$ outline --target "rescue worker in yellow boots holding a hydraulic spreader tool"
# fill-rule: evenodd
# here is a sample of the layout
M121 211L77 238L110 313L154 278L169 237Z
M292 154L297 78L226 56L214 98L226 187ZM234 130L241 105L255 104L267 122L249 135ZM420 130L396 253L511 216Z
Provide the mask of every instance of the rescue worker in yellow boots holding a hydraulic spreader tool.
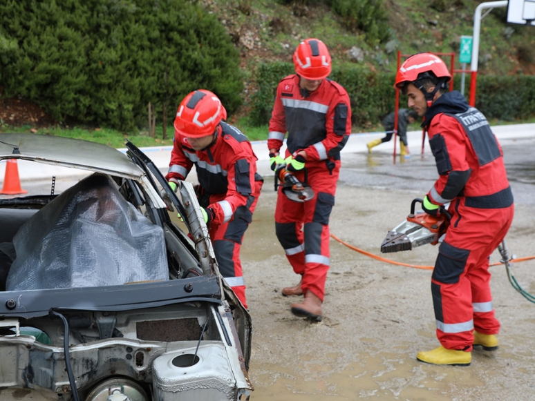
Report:
M449 203L449 228L431 277L441 346L417 354L430 364L469 365L475 345L498 349L500 322L494 316L489 256L513 220L513 194L503 152L482 113L457 91L442 59L420 53L406 59L395 87L424 116L439 177L424 197L426 213Z

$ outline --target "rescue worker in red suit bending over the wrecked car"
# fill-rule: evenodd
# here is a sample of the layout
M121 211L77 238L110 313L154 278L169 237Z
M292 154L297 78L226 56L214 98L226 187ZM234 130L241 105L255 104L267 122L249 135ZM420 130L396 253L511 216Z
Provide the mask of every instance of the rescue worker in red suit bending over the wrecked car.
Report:
M256 173L250 141L226 124L227 112L214 93L196 90L180 103L169 171L165 178L176 191L195 164L196 193L219 271L247 308L240 248L263 184Z

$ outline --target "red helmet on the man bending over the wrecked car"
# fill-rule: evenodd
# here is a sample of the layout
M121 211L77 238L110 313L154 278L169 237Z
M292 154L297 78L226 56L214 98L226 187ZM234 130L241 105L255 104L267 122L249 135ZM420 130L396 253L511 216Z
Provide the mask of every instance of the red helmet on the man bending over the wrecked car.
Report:
M189 93L178 106L175 129L185 137L212 135L227 110L219 98L209 90L199 89Z

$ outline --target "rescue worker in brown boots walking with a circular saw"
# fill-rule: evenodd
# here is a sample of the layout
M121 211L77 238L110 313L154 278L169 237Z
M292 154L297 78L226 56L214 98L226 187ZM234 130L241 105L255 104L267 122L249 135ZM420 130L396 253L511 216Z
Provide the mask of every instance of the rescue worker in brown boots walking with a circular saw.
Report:
M351 132L351 109L346 90L328 79L331 59L319 39L302 41L294 52L295 75L279 82L276 90L268 148L272 170L285 166L315 197L294 202L279 188L275 211L276 236L294 272L297 286L283 295L303 295L292 313L313 322L322 319L321 304L330 266L329 216L335 204L340 150ZM279 154L288 133L284 157Z

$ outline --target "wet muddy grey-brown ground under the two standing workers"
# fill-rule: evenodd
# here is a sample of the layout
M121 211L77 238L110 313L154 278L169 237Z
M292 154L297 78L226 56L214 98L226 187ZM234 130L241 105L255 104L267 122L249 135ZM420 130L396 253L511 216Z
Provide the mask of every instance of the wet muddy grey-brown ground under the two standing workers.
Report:
M432 266L434 246L386 255L380 254L379 246L388 230L409 213L411 200L433 184L433 160L414 157L393 166L390 155L372 156L346 157L331 233L393 262ZM417 168L426 164L433 167L430 173ZM524 178L511 174L512 186L520 182L520 190L529 191L525 199L535 197L530 182L534 171L527 168ZM254 327L253 401L535 400L535 304L514 291L503 265L491 268L494 306L502 324L500 348L474 349L466 367L433 366L415 358L418 351L439 345L430 271L381 262L334 239L323 322L310 324L294 317L290 306L301 298L282 297L280 291L297 284L298 277L274 235L271 180L266 179L242 248ZM509 251L517 257L535 255L529 199L517 202L507 237ZM499 260L497 252L491 256L491 263ZM535 261L514 264L513 271L524 289L534 293Z

